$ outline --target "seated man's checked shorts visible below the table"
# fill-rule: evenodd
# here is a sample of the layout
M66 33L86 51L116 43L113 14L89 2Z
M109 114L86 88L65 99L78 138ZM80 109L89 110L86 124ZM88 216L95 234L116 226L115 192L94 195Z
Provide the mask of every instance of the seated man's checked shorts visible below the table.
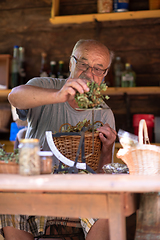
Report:
M97 221L97 219L86 219L83 218L73 219L73 218L57 218L57 217L42 217L42 216L27 216L27 215L0 215L0 234L3 234L3 227L12 226L19 230L24 230L26 232L32 233L34 237L44 235L46 228L50 225L54 226L64 226L66 230L68 227L71 228L81 228L83 229L85 237L89 232L92 225ZM58 228L55 228L56 230ZM60 229L60 228L59 228ZM61 230L59 230L61 234ZM75 232L75 229L74 229Z

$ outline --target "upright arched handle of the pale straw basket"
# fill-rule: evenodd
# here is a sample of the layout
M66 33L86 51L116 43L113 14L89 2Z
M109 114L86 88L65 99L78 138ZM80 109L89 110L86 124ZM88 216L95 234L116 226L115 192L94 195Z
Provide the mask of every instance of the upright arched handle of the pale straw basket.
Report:
M144 133L144 138L143 138L143 133ZM144 119L141 119L139 122L139 132L138 132L138 139L139 139L139 144L143 144L143 142L149 143L149 137L148 137L148 130L147 130L147 124Z

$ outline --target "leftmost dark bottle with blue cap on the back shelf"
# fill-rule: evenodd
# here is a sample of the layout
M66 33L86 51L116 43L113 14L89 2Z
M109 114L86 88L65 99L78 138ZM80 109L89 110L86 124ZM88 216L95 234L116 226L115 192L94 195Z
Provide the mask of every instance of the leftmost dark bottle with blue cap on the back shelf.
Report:
M19 46L13 48L13 58L11 64L11 81L10 87L14 88L19 85Z

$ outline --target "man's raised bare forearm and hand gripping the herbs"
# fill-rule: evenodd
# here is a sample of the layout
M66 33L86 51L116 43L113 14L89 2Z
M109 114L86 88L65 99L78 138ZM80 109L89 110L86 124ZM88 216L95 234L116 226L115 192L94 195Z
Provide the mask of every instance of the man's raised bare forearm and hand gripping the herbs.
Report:
M76 91L89 91L85 79L68 79L60 89L49 89L31 85L20 85L8 95L9 102L18 109L29 109L47 104L73 101Z

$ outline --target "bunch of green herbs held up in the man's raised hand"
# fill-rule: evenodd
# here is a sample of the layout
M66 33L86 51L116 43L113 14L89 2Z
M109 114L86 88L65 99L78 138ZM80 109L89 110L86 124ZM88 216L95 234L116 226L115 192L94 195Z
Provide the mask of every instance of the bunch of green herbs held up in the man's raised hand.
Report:
M108 96L104 97L101 93L102 91L106 91L108 88L105 83L98 85L95 82L87 82L87 86L90 89L88 92L83 94L77 92L75 95L75 100L79 108L98 108L103 103L104 99L109 99Z

